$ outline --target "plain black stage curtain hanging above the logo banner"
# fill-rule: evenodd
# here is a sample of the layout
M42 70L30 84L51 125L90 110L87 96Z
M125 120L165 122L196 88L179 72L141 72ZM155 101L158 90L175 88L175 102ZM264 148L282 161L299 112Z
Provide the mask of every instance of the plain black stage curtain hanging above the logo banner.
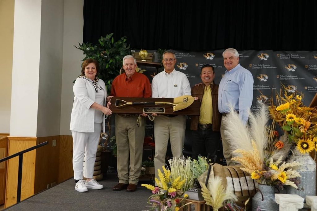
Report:
M84 42L132 48L317 50L317 1L84 0Z

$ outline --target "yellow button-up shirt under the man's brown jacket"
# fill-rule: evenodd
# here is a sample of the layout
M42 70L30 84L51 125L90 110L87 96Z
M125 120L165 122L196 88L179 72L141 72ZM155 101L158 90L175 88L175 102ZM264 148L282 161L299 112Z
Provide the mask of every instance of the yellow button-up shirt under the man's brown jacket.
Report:
M212 124L212 99L210 86L204 87L204 95L200 105L200 124Z

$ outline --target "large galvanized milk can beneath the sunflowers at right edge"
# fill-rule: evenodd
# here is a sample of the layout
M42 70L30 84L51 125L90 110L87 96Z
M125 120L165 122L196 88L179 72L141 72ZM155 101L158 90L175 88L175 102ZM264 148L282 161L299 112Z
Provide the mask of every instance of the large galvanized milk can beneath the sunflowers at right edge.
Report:
M309 153L301 154L296 148L293 148L293 153L286 162L297 161L300 162L300 166L294 167L294 170L297 170L301 177L296 177L300 182L298 189L293 187L287 188L288 194L297 194L306 199L306 195L316 195L316 162ZM306 203L304 208L307 208Z

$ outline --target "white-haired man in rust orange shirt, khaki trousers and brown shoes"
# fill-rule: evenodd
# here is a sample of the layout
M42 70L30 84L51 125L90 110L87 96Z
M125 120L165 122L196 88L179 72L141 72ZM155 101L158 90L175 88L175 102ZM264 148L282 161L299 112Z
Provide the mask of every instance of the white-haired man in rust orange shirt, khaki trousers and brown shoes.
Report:
M110 95L117 97L151 97L150 81L145 75L135 71L137 62L133 56L125 56L122 62L125 73L120 74L113 80ZM137 119L138 115L115 115L119 183L113 187L114 191L126 188L128 192L133 192L139 182L145 124L138 127Z

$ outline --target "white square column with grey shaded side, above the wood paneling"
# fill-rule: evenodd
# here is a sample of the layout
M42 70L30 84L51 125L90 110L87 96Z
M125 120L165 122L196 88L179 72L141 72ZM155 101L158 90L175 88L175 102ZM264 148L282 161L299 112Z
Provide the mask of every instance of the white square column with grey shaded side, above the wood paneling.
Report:
M59 135L64 0L15 0L10 136Z

